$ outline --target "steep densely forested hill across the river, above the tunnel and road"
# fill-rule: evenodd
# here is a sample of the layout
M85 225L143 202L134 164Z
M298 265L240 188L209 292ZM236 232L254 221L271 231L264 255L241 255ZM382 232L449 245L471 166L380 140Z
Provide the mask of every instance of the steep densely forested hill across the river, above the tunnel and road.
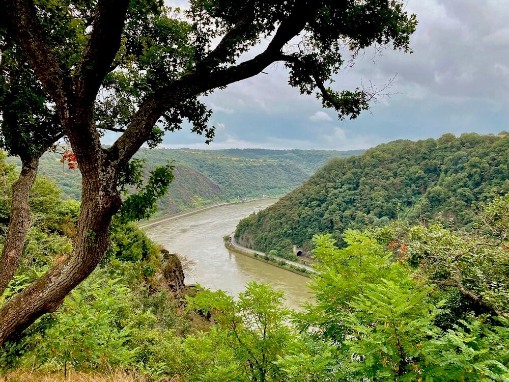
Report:
M470 228L479 203L509 192L509 135L444 134L394 141L360 156L331 160L278 203L242 220L236 237L249 248L310 248L314 234L340 240L348 229L438 217Z

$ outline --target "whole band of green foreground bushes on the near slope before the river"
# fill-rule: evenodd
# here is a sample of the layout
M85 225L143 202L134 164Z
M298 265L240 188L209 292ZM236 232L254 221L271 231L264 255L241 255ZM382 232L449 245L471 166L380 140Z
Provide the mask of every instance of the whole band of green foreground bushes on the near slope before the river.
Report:
M16 174L3 160L0 170L5 232ZM79 202L60 194L54 182L36 179L33 225L0 307L70 255ZM393 222L347 230L343 249L330 234L315 235L315 301L296 313L282 292L256 282L238 298L185 286L189 261L117 216L100 266L59 309L4 344L0 375L13 382L504 382L508 219L505 196L479 208L468 233Z

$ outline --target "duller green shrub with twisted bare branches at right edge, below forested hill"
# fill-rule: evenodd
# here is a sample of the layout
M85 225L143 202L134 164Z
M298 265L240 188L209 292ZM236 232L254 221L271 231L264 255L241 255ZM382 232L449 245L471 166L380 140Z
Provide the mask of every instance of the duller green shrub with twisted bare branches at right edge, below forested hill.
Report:
M509 318L509 195L497 197L479 214L472 232L436 224L408 232L409 262L444 289L455 289L477 312Z

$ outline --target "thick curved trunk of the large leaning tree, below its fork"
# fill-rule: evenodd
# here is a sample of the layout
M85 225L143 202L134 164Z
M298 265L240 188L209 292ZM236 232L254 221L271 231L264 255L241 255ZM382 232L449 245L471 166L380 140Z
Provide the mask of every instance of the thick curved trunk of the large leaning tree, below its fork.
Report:
M65 296L92 273L108 248L111 217L121 205L116 174L101 167L98 172L82 171L82 175L73 251L0 308L0 347L44 313L55 311Z

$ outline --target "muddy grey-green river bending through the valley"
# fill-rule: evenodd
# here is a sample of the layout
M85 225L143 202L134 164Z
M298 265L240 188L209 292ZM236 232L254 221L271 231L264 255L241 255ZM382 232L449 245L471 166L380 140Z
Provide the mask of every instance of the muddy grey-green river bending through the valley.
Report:
M237 295L246 283L255 280L285 292L286 305L299 309L309 301L309 279L288 270L238 254L224 247L223 236L232 233L237 223L252 212L266 208L274 199L230 204L205 210L146 229L147 235L170 252L195 262L186 273L186 284L200 284Z

